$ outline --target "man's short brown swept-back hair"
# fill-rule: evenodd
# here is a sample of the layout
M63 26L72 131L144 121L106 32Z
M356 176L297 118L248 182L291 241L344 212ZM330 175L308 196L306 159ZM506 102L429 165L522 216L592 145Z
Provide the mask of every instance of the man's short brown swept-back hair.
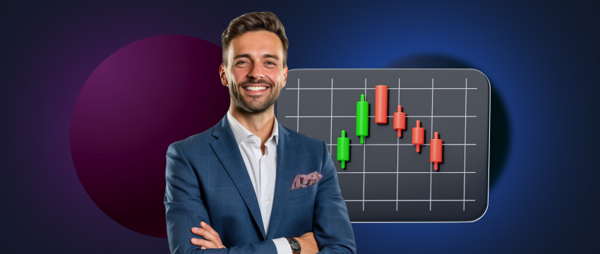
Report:
M280 38L283 44L283 66L287 66L287 46L289 42L287 41L287 37L285 37L283 24L274 13L268 11L246 13L229 23L229 26L223 31L223 35L221 35L223 65L227 66L227 51L229 50L229 45L232 43L232 40L244 35L246 32L261 30L273 32Z

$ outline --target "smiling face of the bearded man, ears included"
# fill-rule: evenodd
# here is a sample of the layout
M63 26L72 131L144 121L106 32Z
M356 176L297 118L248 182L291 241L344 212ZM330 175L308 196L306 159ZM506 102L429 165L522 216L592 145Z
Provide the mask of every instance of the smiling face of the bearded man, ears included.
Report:
M287 79L283 44L268 31L246 32L229 44L227 66L219 68L221 83L237 107L258 113L268 109L280 95Z

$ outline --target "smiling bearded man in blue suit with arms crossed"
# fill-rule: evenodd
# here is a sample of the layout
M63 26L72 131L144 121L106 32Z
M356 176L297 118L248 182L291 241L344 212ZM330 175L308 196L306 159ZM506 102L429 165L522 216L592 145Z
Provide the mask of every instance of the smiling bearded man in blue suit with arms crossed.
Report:
M167 150L171 253L356 253L327 144L275 119L287 78L280 20L240 16L222 47L227 115Z

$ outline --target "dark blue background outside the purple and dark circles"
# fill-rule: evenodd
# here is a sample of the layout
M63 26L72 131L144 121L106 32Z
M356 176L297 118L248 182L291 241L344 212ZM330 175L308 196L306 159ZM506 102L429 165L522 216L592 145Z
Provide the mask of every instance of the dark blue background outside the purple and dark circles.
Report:
M592 3L3 3L0 252L168 253L167 239L116 224L85 193L68 139L74 104L90 73L121 47L155 35L220 45L229 21L253 11L282 20L291 69L443 56L485 73L503 102L510 146L484 217L353 224L359 253L597 250L600 9Z

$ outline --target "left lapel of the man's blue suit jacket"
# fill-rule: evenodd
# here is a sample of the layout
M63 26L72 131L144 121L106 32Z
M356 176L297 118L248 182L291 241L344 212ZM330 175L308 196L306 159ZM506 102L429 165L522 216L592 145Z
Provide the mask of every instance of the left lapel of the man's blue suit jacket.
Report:
M214 131L212 131L212 135L217 140L212 141L210 146L217 154L217 157L219 157L225 170L227 170L229 177L232 178L239 194L244 198L244 202L246 202L246 206L250 210L254 222L258 225L260 233L263 234L264 241L266 239L265 226L263 225L263 217L258 207L258 200L256 200L256 193L254 192L250 176L248 176L248 169L246 169L244 159L241 157L241 152L239 151L232 128L229 126L229 121L227 121L227 115L221 119ZM277 153L279 154L279 147L277 147ZM277 162L277 169L279 169L279 162ZM277 170L277 173L279 173L279 170ZM290 188L292 188L291 185Z

